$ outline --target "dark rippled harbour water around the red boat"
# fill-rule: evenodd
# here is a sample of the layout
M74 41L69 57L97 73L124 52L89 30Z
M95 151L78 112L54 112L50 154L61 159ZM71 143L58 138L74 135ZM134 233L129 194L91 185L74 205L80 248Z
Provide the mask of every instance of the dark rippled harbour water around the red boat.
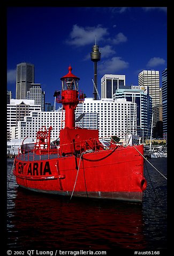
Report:
M148 161L167 177L167 158ZM7 159L7 250L167 250L167 180L147 161L142 205L31 193L12 166Z

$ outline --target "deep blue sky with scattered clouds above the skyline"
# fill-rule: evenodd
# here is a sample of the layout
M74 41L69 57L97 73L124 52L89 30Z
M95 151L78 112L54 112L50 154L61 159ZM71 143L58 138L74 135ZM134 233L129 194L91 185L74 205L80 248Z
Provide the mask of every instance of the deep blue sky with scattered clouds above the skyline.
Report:
M90 52L100 47L97 88L104 74L126 76L138 85L142 70L167 68L166 7L9 7L7 8L7 90L16 97L16 66L35 66L35 83L54 104L60 77L80 77L79 89L93 97L94 64Z

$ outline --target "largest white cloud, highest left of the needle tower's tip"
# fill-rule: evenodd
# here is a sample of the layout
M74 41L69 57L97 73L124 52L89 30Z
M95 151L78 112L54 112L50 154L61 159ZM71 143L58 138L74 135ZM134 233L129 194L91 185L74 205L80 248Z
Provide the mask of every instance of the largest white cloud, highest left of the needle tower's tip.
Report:
M72 31L70 33L70 39L67 40L67 44L74 46L84 46L88 44L95 43L96 41L103 40L103 37L108 34L106 28L97 25L95 27L80 27L78 25L73 25Z

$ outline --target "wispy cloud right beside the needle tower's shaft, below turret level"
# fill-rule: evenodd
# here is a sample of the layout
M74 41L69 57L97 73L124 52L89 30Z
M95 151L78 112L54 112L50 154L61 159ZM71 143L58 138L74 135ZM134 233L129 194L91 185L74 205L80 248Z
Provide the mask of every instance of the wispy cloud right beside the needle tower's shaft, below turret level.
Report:
M116 74L119 70L128 67L128 62L122 60L120 57L113 57L110 60L99 63L100 74Z

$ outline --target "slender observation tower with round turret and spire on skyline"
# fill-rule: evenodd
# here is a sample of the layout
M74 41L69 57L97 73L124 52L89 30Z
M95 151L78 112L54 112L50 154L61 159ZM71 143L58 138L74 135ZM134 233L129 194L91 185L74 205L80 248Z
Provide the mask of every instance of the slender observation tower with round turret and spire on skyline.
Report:
M97 61L100 60L101 53L99 52L99 45L96 45L96 39L95 39L95 45L92 47L92 52L90 53L90 59L94 62L94 83L97 88ZM97 99L97 91L94 87L94 99Z

